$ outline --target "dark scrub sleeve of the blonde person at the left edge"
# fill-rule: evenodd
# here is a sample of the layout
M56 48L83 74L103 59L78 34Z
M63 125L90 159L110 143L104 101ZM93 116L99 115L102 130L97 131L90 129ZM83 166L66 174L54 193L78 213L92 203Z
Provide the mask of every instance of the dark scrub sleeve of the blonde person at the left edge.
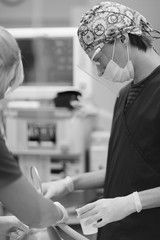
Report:
M0 188L22 176L22 172L16 159L8 150L6 143L0 134Z

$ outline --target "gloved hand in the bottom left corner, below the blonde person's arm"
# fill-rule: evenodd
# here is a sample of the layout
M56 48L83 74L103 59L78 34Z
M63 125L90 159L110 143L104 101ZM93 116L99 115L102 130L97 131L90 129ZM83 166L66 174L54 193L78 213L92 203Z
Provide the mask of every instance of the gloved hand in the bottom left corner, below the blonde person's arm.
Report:
M19 236L20 232L28 232L29 227L22 223L15 216L1 216L0 217L0 232L5 236ZM15 239L15 238L14 238Z

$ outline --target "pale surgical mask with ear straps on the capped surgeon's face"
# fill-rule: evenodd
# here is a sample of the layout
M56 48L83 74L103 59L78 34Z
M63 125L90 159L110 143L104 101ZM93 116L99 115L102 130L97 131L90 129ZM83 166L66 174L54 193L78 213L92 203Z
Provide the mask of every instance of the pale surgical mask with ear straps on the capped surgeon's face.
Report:
M112 53L112 59L109 61L109 63L106 66L106 69L103 73L103 77L109 81L112 82L126 82L133 80L134 78L134 69L133 69L133 64L129 60L129 51L128 51L128 46L127 46L127 56L128 56L128 61L127 64L124 68L121 68L116 62L113 61L114 57L114 52L115 52L115 42L113 45L113 53Z

